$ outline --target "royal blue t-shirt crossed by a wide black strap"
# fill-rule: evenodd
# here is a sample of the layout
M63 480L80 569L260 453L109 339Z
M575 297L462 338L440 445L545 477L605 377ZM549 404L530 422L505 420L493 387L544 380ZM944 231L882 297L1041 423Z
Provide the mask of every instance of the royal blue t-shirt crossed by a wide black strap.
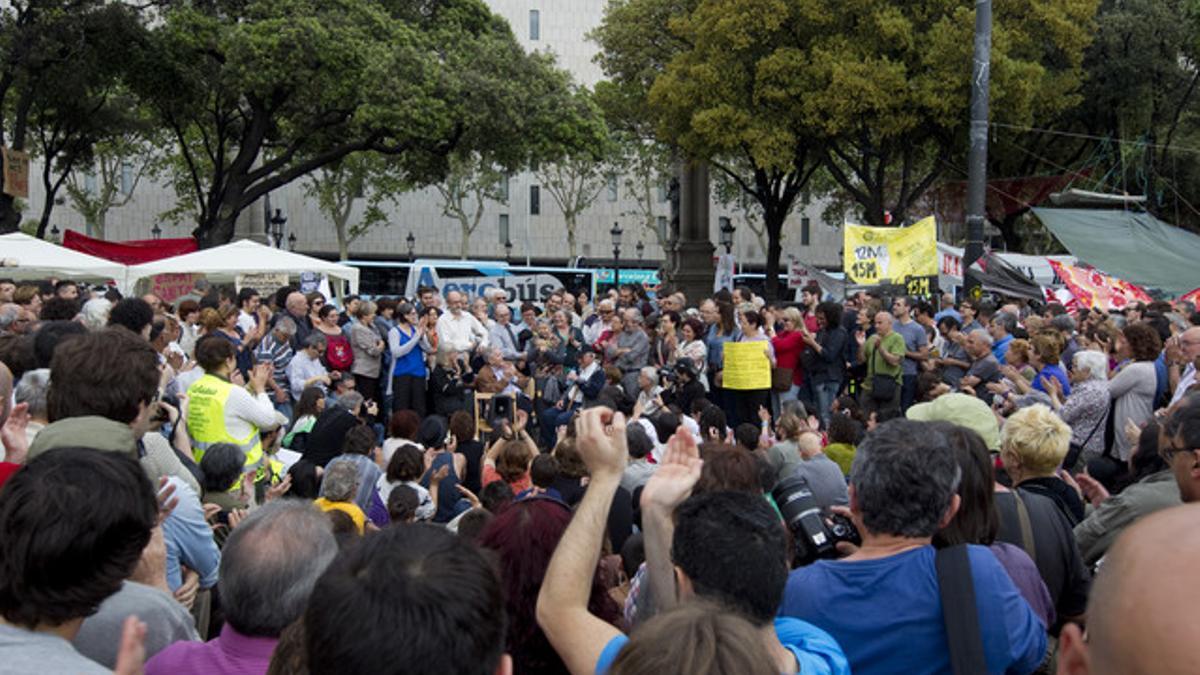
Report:
M988 673L1031 673L1045 627L985 546L968 546ZM792 571L780 614L829 632L856 675L950 673L934 546Z

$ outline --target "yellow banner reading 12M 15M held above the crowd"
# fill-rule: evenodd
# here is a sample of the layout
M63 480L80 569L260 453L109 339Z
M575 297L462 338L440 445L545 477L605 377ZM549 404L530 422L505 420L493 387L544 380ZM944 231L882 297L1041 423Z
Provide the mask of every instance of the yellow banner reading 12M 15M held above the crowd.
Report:
M934 216L910 227L846 225L846 281L859 286L905 283L937 275L937 223Z

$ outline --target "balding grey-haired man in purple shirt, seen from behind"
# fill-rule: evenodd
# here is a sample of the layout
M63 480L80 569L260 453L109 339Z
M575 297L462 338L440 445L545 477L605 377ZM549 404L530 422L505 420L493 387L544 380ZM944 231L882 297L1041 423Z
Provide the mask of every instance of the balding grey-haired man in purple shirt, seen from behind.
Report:
M311 504L269 503L229 534L221 558L221 637L175 643L146 663L155 673L265 673L280 634L299 619L337 555L329 519Z

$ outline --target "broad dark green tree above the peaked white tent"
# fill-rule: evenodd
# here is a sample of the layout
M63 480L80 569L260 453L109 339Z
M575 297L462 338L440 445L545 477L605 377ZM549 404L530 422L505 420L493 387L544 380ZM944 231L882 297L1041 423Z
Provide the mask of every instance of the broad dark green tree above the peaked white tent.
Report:
M455 150L520 163L504 141L527 130L527 92L559 85L479 0L174 2L144 58L139 91L178 145L176 215L194 215L202 246L353 153L389 155L413 185Z

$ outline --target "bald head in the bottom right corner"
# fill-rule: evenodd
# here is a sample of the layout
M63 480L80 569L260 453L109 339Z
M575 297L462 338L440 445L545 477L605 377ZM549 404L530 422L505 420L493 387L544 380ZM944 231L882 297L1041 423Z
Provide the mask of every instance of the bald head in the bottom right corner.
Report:
M1200 504L1160 510L1129 527L1104 558L1087 604L1087 641L1074 623L1058 638L1058 675L1183 675L1200 659Z

